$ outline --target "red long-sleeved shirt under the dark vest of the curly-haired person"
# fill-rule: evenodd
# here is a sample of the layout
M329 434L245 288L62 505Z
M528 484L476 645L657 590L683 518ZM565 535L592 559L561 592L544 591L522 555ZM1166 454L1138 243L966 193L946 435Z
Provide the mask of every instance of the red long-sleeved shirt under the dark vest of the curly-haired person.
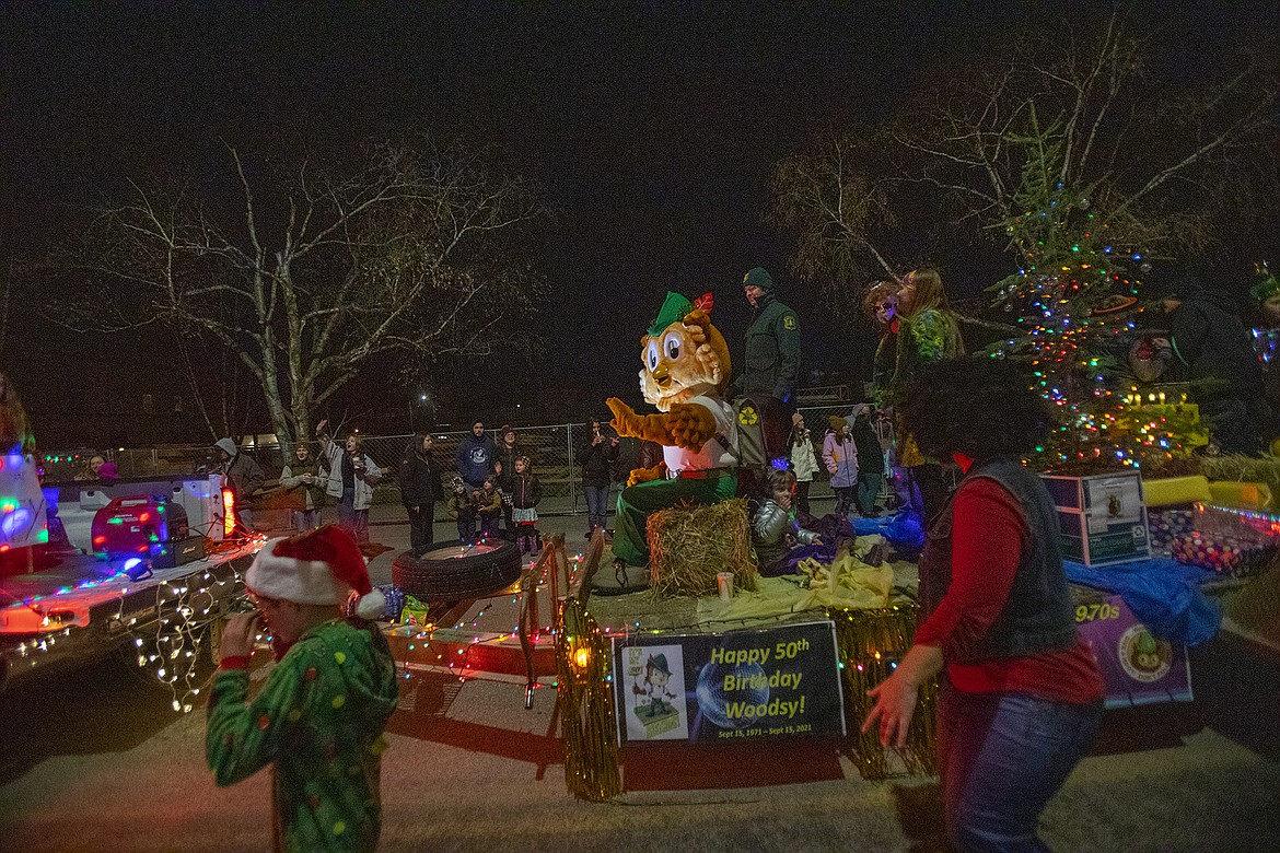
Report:
M1012 590L1030 531L1018 501L995 480L965 482L956 494L951 526L951 586L938 609L915 632L924 646L980 638L1000 616ZM951 683L968 693L1030 693L1055 702L1087 703L1106 688L1093 651L1079 638L1070 648L978 664L947 664Z

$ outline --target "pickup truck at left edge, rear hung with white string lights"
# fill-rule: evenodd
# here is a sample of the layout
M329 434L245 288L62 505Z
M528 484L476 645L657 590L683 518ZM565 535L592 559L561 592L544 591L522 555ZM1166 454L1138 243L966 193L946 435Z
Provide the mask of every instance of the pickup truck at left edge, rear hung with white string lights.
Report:
M60 520L65 540L46 533L40 545L0 554L5 558L0 689L33 673L87 665L119 652L152 665L168 680L177 666L155 666L157 657L179 646L209 646L207 628L242 593L243 573L261 546L256 537L224 538L224 496L216 476L46 482L40 491L42 520L47 513L55 532L52 519ZM164 497L180 505L192 537L201 540L202 556L186 563L150 555L95 556L93 517L116 497ZM200 642L188 642L193 638Z

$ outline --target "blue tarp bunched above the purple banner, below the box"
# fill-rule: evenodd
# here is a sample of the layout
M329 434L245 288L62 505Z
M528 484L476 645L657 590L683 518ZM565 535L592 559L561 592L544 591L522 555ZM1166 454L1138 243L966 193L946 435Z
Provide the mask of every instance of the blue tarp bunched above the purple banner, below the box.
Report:
M1119 593L1157 637L1199 646L1212 639L1222 623L1217 604L1201 584L1221 575L1167 556L1089 568L1066 560L1066 579Z

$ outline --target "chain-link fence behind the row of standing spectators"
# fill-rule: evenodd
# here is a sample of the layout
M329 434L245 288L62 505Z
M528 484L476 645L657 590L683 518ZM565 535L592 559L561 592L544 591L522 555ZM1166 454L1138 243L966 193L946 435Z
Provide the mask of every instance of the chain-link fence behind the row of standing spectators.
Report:
M814 455L818 458L818 473L810 487L810 499L831 497L827 471L822 464L822 440L832 416L849 418L852 405L806 407L800 409L805 426L814 441ZM887 418L878 418L874 430L886 449L892 448L892 426ZM470 431L433 432L435 446L433 455L448 483L449 476L457 469L457 451L462 439ZM498 439L494 431L486 431L494 444ZM538 506L540 515L586 514L586 500L581 486L581 449L588 442L588 426L584 423L557 423L550 426L525 426L516 428L517 453L527 455L532 471L543 486L543 501ZM364 451L381 471L381 480L374 487L375 505L399 505L399 483L397 468L406 450L412 445L412 435L361 436ZM312 450L319 449L312 445ZM261 509L271 509L271 487L279 480L284 468L284 458L278 445L250 445L241 449L252 457L266 474L268 487L256 503ZM72 482L78 476L87 474L88 459L93 450L79 449L45 455L46 482ZM97 451L115 462L122 478L151 478L165 474L191 474L216 468L216 450L211 445L166 445L157 448L122 448ZM637 466L639 442L635 439L622 439L618 458L614 463L614 494L626 481L627 473ZM887 489L887 486L886 486ZM278 494L278 492L276 492ZM611 501L612 503L612 501Z

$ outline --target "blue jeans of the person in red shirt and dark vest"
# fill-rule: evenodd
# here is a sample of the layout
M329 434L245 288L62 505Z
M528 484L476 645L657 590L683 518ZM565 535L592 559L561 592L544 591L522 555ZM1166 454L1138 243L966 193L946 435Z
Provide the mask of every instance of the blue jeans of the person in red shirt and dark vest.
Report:
M943 678L938 770L955 848L1047 850L1036 834L1039 813L1088 752L1101 721L1101 701L965 693Z

